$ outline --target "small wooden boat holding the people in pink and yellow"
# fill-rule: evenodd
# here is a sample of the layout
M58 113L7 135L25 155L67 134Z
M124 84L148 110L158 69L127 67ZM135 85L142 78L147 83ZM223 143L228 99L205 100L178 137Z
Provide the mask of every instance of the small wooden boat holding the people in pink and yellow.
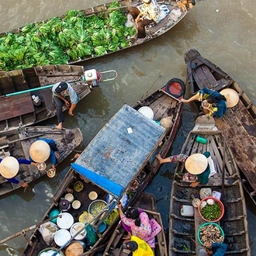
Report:
M156 220L157 223L161 225L162 230L155 237L156 247L154 248L154 255L167 256L168 252L164 235L164 227L161 220L161 214L157 212L156 198L154 197L154 195L143 192L142 194L140 194L137 202L134 203L133 207L143 209L143 211L147 213L150 219L154 218L154 220ZM122 251L123 236L125 234L126 233L122 226L122 223L119 222L115 231L109 239L109 243L107 244L103 255L127 255L125 252Z

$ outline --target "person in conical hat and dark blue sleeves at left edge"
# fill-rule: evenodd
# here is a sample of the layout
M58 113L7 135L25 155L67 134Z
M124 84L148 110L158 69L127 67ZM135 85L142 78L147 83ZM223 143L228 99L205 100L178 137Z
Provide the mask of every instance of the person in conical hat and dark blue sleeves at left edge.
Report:
M0 158L0 174L13 184L19 184L23 188L27 188L29 185L26 182L19 181L15 176L19 172L19 164L31 164L36 166L36 163L26 159L16 159L16 157Z

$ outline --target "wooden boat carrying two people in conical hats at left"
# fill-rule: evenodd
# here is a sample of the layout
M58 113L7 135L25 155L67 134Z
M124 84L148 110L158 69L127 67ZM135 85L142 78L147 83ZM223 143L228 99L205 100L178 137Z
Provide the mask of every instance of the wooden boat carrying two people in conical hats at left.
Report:
M21 127L19 130L10 130L1 133L0 157L12 156L17 159L29 159L29 147L36 139L40 138L55 140L59 150L58 164L82 142L81 130L78 128L58 130L50 126ZM51 168L50 160L46 164L47 167L43 171L39 171L35 166L30 164L20 164L19 173L16 175L16 178L27 183L33 182L42 175L45 175L47 170ZM0 195L5 195L19 188L20 185L8 182L0 176Z

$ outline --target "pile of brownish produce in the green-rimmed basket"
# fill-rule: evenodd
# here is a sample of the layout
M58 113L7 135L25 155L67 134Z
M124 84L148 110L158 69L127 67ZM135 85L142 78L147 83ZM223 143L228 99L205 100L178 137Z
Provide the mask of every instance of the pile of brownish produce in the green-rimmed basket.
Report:
M202 227L199 231L199 237L202 241L202 244L205 243L223 243L224 237L220 232L219 227L209 224L205 227Z

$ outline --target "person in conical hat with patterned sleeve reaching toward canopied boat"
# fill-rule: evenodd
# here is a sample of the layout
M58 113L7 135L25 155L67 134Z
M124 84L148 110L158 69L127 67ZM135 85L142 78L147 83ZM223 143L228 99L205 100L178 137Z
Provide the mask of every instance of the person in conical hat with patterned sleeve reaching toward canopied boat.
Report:
M203 154L177 154L171 157L162 158L157 154L157 160L160 164L177 163L178 161L185 162L185 169L188 173L183 176L183 181L191 182L191 186L195 188L197 185L206 185L209 181L210 168L207 158L210 157L209 151Z

